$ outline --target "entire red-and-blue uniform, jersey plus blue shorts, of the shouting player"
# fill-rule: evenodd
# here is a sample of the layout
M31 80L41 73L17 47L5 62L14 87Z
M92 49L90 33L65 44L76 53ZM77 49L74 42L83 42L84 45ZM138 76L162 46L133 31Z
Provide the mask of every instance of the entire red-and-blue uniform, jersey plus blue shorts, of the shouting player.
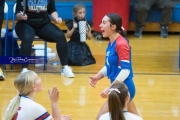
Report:
M132 81L131 50L128 41L123 36L119 35L113 43L109 42L106 49L105 68L107 70L107 77L111 83L115 80L124 82L130 88L130 97L133 99L135 87ZM124 76L124 79L121 76Z

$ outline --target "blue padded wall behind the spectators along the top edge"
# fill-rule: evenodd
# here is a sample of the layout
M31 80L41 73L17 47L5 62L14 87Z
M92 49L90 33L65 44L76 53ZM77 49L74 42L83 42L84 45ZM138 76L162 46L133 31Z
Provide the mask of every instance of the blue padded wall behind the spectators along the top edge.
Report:
M175 1L175 0L174 0ZM12 13L13 13L13 5L14 2L7 2L9 6L9 19L12 19ZM56 2L56 8L58 11L59 16L64 19L72 19L72 8L73 6L78 2ZM82 2L86 6L86 19L92 20L92 1L86 1ZM134 0L131 0L130 3L130 13L129 13L130 21L135 21L135 11L134 11ZM161 11L157 8L152 8L149 11L147 21L149 22L159 22L161 19ZM180 22L180 0L176 0L176 6L173 11L172 16L173 22Z

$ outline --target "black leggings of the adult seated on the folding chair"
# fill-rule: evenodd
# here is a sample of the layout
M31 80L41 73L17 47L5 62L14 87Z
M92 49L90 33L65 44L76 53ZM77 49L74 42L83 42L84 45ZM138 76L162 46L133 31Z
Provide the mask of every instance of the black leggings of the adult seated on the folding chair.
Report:
M62 30L51 22L43 26L33 27L27 23L19 21L15 26L16 33L21 40L21 56L30 56L34 36L37 35L45 41L55 42L58 56L62 65L68 65L67 41ZM27 68L27 64L23 64Z

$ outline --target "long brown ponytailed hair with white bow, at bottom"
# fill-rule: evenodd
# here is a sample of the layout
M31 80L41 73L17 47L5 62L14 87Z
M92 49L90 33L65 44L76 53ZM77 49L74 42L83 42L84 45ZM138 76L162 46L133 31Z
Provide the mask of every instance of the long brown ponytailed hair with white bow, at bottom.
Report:
M123 108L128 96L127 86L124 83L115 83L109 91L108 106L111 120L125 120Z

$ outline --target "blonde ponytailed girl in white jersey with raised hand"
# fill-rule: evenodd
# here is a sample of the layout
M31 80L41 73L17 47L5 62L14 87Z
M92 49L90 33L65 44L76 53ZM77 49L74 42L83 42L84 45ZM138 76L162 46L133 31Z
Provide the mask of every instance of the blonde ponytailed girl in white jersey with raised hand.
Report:
M31 70L19 74L14 81L19 94L11 100L5 120L71 120L69 116L60 114L59 91L56 87L48 90L52 116L41 104L34 101L36 94L41 91L41 84L41 78Z

